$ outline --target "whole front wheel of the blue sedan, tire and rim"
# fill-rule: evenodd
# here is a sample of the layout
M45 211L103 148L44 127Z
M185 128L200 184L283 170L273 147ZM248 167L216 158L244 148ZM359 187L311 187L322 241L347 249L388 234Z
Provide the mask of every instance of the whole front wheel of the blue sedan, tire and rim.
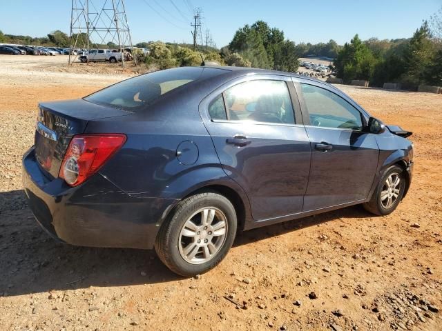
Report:
M401 202L405 191L406 178L398 165L388 168L379 181L372 199L363 206L376 215L391 214Z

